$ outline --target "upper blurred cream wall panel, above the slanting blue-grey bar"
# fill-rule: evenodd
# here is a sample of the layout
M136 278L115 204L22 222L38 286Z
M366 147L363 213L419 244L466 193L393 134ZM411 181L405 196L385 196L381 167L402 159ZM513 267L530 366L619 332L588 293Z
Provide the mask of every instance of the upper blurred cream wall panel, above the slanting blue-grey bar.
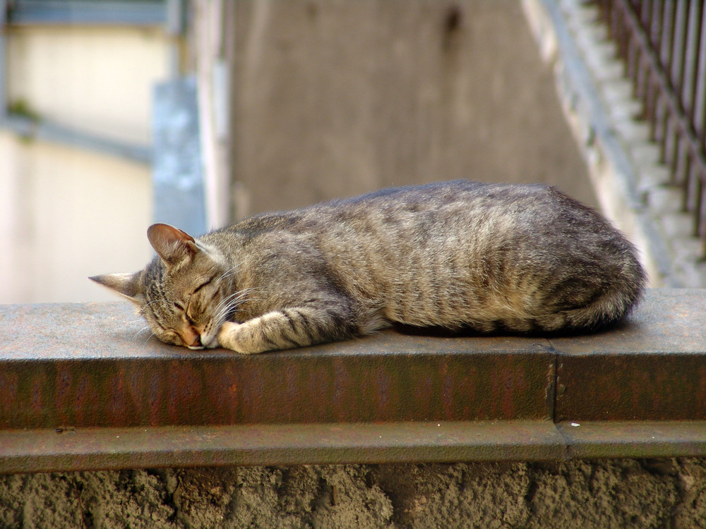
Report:
M152 83L167 77L162 32L33 26L8 31L8 99L44 118L127 142L150 141Z

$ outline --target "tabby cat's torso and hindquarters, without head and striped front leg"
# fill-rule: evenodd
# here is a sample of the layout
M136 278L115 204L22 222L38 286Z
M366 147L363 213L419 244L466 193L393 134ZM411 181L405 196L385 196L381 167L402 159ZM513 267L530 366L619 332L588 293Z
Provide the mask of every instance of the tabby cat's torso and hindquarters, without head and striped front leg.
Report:
M622 317L645 283L620 232L541 184L388 188L259 215L210 237L253 281L288 292L301 278L327 281L375 322L597 327Z

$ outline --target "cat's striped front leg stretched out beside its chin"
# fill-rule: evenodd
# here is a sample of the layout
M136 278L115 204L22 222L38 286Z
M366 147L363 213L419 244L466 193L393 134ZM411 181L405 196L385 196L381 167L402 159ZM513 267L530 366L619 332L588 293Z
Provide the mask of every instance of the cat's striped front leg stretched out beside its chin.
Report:
M225 322L222 347L243 354L310 346L352 338L357 326L345 310L304 307L273 310L243 323Z

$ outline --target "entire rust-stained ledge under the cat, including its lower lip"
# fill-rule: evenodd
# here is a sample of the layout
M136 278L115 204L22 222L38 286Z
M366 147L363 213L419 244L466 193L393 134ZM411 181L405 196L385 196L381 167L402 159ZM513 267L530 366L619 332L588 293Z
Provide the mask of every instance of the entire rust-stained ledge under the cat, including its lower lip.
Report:
M241 356L127 303L0 307L0 472L706 455L706 291L590 336L364 339ZM579 425L579 426L573 426Z

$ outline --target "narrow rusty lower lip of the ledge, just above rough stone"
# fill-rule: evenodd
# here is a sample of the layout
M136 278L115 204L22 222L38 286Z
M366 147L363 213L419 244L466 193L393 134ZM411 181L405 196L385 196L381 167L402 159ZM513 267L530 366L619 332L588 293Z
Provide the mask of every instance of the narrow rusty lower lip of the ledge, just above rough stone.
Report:
M0 432L0 473L706 456L706 421L394 422Z

